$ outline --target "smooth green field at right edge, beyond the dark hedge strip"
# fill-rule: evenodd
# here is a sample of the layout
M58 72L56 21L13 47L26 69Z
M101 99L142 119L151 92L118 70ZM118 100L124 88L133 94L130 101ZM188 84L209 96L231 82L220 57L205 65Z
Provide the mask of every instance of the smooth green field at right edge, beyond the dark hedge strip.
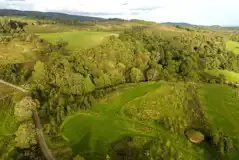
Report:
M226 85L204 85L199 90L206 117L212 125L235 139L234 151L239 156L239 91Z

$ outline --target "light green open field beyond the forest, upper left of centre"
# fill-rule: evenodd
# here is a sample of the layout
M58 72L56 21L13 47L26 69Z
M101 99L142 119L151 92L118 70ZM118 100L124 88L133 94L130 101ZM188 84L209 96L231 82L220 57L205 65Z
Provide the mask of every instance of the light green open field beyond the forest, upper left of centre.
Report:
M110 32L61 32L40 34L43 38L51 43L55 43L59 39L67 41L68 48L77 50L81 48L91 48L101 44L111 35L116 35Z

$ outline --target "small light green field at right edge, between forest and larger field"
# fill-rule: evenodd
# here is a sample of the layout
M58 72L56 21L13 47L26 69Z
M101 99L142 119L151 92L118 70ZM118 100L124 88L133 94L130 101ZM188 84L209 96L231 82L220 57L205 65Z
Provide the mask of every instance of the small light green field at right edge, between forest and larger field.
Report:
M206 70L205 72L213 75L213 76L219 76L219 74L223 74L226 78L226 80L231 82L238 82L239 83L239 74L233 71L228 70Z

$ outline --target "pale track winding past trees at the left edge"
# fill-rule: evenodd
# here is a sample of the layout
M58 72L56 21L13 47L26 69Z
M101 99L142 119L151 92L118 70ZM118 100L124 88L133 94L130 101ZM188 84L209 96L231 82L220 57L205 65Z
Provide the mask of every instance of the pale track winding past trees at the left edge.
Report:
M19 86L16 86L14 84L8 83L8 82L6 82L4 80L0 79L0 83L5 84L5 85L7 85L9 87L15 88L15 89L17 89L17 90L19 90L19 91L21 91L23 93L29 93L28 90L26 90L24 88L21 88ZM43 153L44 157L47 160L55 160L55 158L53 157L53 155L51 153L51 150L48 148L48 146L46 144L46 141L45 141L45 138L44 138L44 134L43 134L43 130L42 130L41 120L40 120L40 118L38 116L37 110L33 111L33 118L35 120L35 124L36 124L36 127L37 127L37 140L38 140L41 152Z

